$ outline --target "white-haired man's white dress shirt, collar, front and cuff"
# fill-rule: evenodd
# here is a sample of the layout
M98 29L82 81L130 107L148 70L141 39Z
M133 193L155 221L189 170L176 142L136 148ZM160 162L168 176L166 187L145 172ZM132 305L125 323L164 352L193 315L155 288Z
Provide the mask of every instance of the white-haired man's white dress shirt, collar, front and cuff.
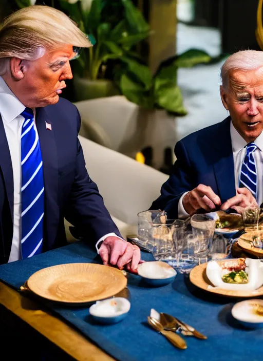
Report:
M241 166L246 154L246 145L248 143L237 132L232 122L230 124L230 135L231 135L231 143L232 143L232 150L234 157L235 185L237 189L239 187ZM256 173L257 173L256 200L257 200L257 204L260 206L263 202L263 132L261 132L261 134L255 139L253 143L257 146L257 149L253 152L253 156L256 163ZM185 192L179 199L179 203L178 203L179 218L185 218L189 216L189 214L185 211L182 202L184 195L187 193L188 192Z

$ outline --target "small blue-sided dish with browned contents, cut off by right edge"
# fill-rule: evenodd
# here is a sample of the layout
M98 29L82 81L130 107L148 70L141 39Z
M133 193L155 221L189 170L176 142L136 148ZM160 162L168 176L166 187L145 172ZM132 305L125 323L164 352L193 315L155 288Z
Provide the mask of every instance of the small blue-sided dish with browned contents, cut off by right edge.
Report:
M260 312L259 312L260 307ZM248 299L238 302L232 308L232 316L243 326L249 328L263 327L263 299Z

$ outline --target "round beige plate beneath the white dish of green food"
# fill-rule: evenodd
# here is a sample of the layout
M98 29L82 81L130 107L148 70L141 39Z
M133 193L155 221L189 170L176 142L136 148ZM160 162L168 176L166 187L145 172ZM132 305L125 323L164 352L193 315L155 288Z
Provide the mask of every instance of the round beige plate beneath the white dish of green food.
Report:
M223 261L218 262L219 265L221 262ZM224 290L222 288L209 287L213 285L206 276L206 272L205 272L206 265L207 263L203 263L202 265L196 266L190 272L190 280L192 284L201 288L202 290L211 293L220 294L226 297L257 297L263 295L263 286L261 286L255 291L231 291L231 290Z

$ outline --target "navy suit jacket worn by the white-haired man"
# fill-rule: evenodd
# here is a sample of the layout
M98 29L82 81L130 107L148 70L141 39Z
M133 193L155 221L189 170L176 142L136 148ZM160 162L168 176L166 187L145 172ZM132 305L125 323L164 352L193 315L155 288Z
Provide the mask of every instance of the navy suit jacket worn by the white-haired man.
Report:
M177 161L161 195L150 209L161 209L178 218L178 202L184 192L199 184L210 186L221 202L236 195L230 117L192 133L175 146Z

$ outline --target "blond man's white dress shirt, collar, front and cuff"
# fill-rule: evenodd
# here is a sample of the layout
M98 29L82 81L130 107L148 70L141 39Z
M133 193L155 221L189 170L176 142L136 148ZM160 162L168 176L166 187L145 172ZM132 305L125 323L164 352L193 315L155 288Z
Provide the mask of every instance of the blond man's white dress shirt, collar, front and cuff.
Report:
M25 118L20 114L24 110L25 106L0 76L0 113L9 146L14 179L13 239L8 262L21 259L21 129ZM117 235L115 233L105 234L98 240L96 248L108 236Z

